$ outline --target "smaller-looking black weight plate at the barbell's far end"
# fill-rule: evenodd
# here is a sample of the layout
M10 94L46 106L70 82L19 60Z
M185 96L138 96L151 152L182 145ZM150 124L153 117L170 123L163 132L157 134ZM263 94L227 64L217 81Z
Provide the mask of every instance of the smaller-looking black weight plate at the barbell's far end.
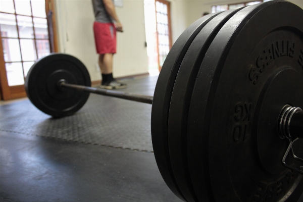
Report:
M25 89L32 104L45 114L64 117L77 112L89 93L63 89L60 80L71 84L90 86L90 77L84 64L67 54L51 54L36 61L25 79Z

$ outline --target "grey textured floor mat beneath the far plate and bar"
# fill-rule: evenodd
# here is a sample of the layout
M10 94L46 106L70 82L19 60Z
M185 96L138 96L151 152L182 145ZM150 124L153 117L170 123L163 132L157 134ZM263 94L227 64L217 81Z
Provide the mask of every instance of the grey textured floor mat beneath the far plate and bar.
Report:
M121 91L153 95L157 78L123 80ZM150 113L149 104L91 93L77 113L54 119L22 100L0 106L0 131L152 152Z

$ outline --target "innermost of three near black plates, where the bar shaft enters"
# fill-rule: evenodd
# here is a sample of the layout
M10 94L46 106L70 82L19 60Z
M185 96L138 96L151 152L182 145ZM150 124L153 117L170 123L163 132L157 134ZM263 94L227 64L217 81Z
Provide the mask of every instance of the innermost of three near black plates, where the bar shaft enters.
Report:
M217 14L202 17L190 25L176 40L162 66L151 108L151 140L159 171L168 187L182 200L176 183L168 150L168 113L174 82L188 47L199 31Z

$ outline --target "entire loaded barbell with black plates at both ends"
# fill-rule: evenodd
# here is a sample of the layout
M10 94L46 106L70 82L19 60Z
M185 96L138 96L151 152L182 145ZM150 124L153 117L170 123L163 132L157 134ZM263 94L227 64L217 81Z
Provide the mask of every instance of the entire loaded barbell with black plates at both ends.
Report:
M78 111L89 92L152 103L156 162L184 201L296 201L303 191L302 17L278 0L198 19L172 46L153 97L92 88L85 66L65 54L35 62L26 92L54 117Z

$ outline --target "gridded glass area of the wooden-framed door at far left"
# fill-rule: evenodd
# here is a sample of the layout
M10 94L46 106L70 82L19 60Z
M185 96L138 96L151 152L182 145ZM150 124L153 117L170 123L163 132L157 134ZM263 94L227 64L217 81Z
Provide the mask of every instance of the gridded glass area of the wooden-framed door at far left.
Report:
M51 52L45 0L0 1L0 31L8 88L24 89L31 65Z

